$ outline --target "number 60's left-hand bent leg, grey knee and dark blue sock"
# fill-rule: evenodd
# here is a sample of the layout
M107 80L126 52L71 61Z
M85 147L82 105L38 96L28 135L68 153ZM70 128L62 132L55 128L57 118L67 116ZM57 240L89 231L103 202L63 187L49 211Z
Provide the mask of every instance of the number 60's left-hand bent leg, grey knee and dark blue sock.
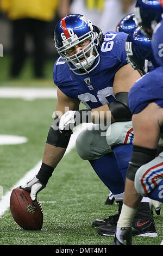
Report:
M121 194L124 192L123 177L114 153L111 152L106 137L101 136L98 125L92 125L79 134L76 149L83 160L89 160L99 178L114 194L115 199L122 200L123 196Z

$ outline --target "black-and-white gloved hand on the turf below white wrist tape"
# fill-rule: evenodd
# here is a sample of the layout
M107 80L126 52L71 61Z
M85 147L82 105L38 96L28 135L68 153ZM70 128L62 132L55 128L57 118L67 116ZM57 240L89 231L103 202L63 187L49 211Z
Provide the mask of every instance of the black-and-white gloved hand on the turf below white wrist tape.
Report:
M126 240L126 244L124 243ZM132 229L129 228L116 228L114 242L112 245L131 245L132 241Z

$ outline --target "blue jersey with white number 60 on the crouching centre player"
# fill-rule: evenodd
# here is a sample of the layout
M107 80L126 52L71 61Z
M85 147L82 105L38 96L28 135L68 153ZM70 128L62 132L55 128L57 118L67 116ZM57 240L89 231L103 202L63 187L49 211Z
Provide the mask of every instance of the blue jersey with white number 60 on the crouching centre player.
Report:
M54 84L68 97L79 99L87 108L97 108L115 100L112 90L118 69L127 64L125 42L128 34L108 32L100 51L100 62L86 75L76 75L61 58L54 64Z

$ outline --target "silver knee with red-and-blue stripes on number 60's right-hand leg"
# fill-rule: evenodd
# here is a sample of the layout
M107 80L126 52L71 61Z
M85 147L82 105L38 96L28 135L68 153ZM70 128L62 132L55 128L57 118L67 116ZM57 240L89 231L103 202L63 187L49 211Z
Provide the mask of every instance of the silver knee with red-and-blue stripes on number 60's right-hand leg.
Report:
M133 144L133 137L131 121L113 123L106 132L106 141L110 147L118 144Z

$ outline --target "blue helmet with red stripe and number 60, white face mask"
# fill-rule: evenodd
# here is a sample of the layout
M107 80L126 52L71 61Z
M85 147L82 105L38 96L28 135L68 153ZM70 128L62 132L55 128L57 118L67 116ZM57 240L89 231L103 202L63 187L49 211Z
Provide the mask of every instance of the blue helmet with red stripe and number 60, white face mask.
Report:
M68 56L67 50L73 49L86 39L90 41L89 45L80 52ZM96 68L100 60L99 50L102 41L101 29L81 14L66 15L57 23L54 30L57 52L76 75L87 74Z

